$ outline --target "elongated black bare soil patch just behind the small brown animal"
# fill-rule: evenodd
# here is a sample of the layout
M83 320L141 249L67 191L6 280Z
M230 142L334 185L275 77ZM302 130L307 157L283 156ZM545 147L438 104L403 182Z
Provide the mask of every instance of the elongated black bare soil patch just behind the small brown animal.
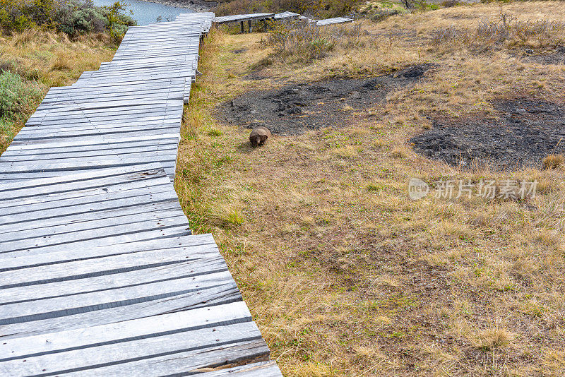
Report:
M347 125L350 109L383 104L389 92L414 85L429 68L429 65L418 65L374 78L335 78L246 92L223 104L219 115L239 126L266 126L280 135L328 126L342 127Z

